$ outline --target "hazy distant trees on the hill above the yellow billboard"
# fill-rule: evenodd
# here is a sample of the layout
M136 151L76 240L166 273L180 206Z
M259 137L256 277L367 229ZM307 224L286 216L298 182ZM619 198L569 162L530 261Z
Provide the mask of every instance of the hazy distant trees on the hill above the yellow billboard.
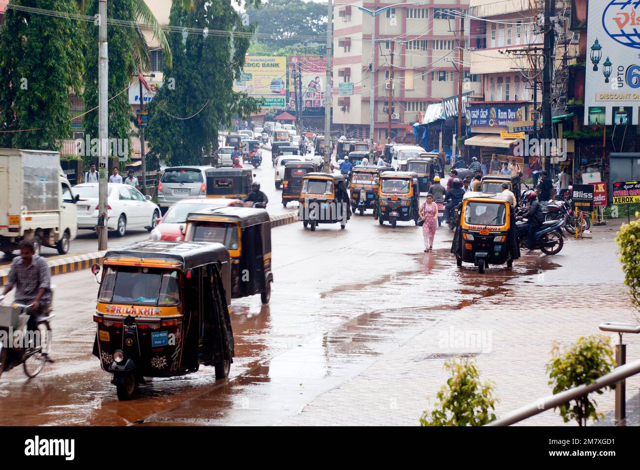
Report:
M303 0L269 0L257 6L247 6L246 13L251 22L258 24L259 42L267 47L279 49L288 45L307 42L296 36L319 36L326 38L326 3Z

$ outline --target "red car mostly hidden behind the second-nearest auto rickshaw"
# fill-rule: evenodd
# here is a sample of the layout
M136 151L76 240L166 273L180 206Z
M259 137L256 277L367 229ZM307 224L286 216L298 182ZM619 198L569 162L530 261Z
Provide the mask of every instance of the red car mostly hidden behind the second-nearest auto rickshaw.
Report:
M227 198L181 199L173 204L163 217L157 219L157 226L151 231L151 239L182 242L184 234L180 231L180 226L184 228L187 216L191 212L199 212L212 207L244 207L244 203L239 199Z

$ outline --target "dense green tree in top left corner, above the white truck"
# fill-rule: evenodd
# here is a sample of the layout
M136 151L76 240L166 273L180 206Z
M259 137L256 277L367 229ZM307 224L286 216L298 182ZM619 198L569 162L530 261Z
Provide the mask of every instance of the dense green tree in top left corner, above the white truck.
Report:
M16 6L78 13L74 0L13 0ZM83 76L81 27L64 19L8 9L0 26L0 146L51 148L71 134L69 92Z

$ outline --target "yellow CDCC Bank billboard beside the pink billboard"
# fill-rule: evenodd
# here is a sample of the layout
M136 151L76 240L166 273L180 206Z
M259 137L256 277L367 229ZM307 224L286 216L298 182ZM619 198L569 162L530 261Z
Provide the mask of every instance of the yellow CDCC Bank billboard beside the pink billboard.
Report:
M234 82L234 91L264 98L262 107L285 107L287 58L248 56L243 72L241 78Z

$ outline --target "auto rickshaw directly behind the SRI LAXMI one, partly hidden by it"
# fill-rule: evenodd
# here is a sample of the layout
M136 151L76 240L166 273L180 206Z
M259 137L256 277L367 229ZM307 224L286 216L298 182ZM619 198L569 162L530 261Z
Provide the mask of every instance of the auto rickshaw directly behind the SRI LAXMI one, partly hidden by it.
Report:
M231 297L271 299L271 223L264 209L208 208L187 216L184 239L223 243L231 256Z

